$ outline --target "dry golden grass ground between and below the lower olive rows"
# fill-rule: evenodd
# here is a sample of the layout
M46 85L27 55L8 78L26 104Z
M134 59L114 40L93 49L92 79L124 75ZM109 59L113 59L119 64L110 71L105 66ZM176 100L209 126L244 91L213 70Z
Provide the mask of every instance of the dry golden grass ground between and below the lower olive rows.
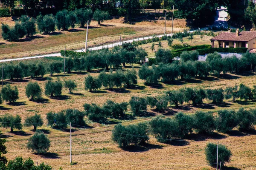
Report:
M47 62L47 59L41 59ZM49 59L48 59L49 60ZM140 65L133 65L136 70ZM123 68L131 69L129 68ZM122 150L111 140L111 130L113 126L121 122L121 120L110 120L109 124L99 124L86 119L90 129L73 129L72 146L73 161L78 162L76 165L69 164L69 129L55 130L46 125L46 113L49 111L58 112L67 108L77 108L83 110L84 103L97 103L102 105L107 99L115 102L128 102L131 96L156 96L163 94L165 91L174 90L184 87L200 87L200 88L224 88L227 86L239 85L241 82L249 87L256 85L256 75L222 75L220 78L208 77L207 79L191 79L189 82L175 81L172 84L160 83L157 87L150 87L143 84L143 80L139 79L138 86L135 89L119 88L109 91L100 89L97 92L90 93L84 90L84 78L91 74L97 76L100 70L93 70L91 73L78 72L72 74L56 74L53 77L46 75L44 79L30 80L25 78L20 82L9 82L16 85L19 90L20 99L15 105L3 103L0 107L0 115L11 113L18 114L22 120L28 115L34 113L41 114L44 118L45 125L40 127L51 140L51 147L47 155L41 156L32 153L26 149L27 139L34 133L32 127L26 127L22 131L10 133L9 129L1 129L2 137L7 139L7 158L14 159L16 156L24 158L31 157L35 162L52 165L54 169L63 167L64 170L148 170L148 169L172 169L172 170L213 170L207 165L204 155L204 147L208 142L219 142L225 144L231 150L233 156L230 163L226 164L230 170L254 170L256 169L256 132L241 133L234 130L230 135L214 133L211 136L199 136L191 134L186 142L175 142L173 144L162 144L157 142L153 136L149 144L145 147L131 147L129 150ZM31 102L25 96L25 86L29 81L37 81L44 89L47 78L51 79L73 79L78 88L74 94L68 94L68 90L64 89L62 98L49 99L44 97L44 102ZM122 120L124 125L133 124L141 121L148 121L152 116L162 114L171 117L177 112L193 114L195 111L212 111L216 112L222 109L239 109L254 108L256 102L240 101L233 103L225 101L225 105L212 105L205 100L202 106L193 107L191 103L185 103L180 109L169 106L165 113L157 113L154 109L148 108L149 116L135 117L135 119ZM128 110L128 114L131 112Z

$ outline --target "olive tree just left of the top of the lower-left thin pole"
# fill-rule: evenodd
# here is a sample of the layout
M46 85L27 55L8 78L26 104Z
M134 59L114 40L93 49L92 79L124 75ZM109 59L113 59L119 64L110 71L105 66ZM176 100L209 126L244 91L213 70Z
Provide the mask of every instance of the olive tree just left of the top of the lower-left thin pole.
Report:
M47 118L48 124L51 127L54 127L54 128L67 127L65 111L61 111L58 113L49 112L47 113L46 118Z

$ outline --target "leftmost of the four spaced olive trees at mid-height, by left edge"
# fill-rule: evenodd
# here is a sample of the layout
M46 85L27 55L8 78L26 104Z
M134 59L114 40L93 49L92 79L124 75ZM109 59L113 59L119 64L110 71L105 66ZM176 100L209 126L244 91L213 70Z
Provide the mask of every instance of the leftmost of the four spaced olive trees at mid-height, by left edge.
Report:
M6 102L12 103L19 99L19 91L17 86L5 85L1 90L2 98Z

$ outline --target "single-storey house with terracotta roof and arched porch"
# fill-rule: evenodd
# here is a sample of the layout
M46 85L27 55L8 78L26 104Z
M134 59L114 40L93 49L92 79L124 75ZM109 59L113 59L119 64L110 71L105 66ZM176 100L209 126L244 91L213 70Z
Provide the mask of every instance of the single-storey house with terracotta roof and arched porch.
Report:
M214 47L215 41L218 48L239 48L246 47L249 50L256 49L256 31L224 32L212 38L211 45Z

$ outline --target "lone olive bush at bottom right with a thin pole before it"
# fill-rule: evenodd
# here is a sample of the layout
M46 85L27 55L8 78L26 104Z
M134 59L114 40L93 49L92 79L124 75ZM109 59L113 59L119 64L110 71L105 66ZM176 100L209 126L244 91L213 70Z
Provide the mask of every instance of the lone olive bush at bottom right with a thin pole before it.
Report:
M206 160L212 167L216 167L217 144L208 143L205 148ZM230 161L231 151L225 145L218 145L218 161L225 164Z

